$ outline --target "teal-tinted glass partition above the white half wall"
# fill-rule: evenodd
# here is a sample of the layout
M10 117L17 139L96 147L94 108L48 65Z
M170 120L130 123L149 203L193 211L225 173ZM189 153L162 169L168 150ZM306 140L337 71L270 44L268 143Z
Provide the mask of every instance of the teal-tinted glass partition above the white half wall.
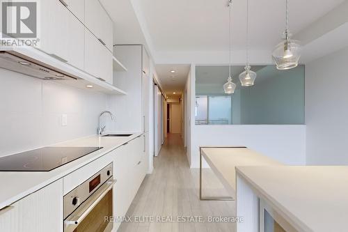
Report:
M304 124L305 66L276 70L274 65L257 65L255 85L242 87L239 74L244 66L233 66L232 95L223 92L228 66L196 66L197 125L301 125Z

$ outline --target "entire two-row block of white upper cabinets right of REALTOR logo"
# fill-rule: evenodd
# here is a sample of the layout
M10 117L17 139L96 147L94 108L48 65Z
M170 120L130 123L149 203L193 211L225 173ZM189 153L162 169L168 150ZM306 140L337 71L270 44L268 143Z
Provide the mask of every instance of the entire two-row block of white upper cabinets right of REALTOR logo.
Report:
M113 84L112 21L97 0L45 0L40 49Z

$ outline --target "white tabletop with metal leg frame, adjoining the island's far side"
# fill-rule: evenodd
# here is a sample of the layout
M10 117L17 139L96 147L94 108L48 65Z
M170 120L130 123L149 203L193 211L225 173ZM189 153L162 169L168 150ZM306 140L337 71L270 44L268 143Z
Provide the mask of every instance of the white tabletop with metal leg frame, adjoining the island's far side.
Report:
M235 167L282 165L249 148L202 148L202 155L232 196L236 190Z

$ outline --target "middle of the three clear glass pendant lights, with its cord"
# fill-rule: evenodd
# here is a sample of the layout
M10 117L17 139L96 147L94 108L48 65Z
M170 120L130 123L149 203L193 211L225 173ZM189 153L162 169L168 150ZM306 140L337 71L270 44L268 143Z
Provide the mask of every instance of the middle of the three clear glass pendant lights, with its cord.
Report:
M249 0L246 0L246 65L245 71L239 75L242 86L253 86L256 79L256 72L251 71L249 65L248 49L249 49Z

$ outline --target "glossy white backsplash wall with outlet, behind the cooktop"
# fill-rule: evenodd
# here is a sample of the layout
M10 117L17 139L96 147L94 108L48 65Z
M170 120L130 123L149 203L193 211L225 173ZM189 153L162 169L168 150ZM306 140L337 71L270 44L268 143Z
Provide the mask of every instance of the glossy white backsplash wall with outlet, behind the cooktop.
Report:
M0 156L97 134L98 116L106 109L103 93L1 68L0 79ZM62 114L68 114L64 127Z

